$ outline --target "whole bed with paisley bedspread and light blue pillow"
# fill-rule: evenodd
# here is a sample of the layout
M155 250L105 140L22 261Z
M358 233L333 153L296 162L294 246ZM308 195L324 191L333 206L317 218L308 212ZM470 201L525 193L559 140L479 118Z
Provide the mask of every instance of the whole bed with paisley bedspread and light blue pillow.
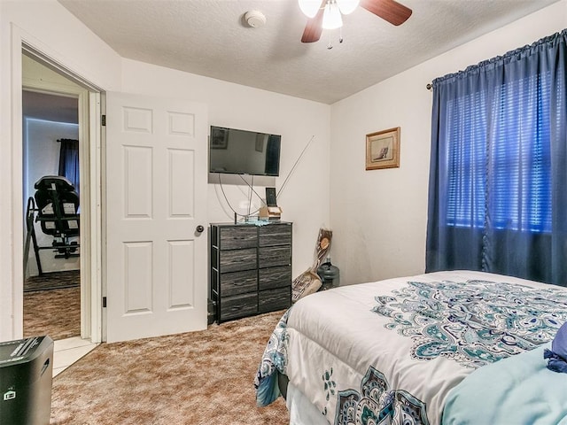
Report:
M283 314L255 379L291 424L567 424L567 375L543 352L567 290L438 272L340 287Z

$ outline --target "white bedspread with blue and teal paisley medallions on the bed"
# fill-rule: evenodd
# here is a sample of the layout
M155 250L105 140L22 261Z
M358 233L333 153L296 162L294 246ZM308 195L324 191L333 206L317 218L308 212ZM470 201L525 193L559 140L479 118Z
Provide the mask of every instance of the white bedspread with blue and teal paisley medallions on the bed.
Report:
M538 348L564 321L567 290L481 272L319 292L276 327L257 401L279 396L283 374L333 424L439 424L449 393L471 372Z

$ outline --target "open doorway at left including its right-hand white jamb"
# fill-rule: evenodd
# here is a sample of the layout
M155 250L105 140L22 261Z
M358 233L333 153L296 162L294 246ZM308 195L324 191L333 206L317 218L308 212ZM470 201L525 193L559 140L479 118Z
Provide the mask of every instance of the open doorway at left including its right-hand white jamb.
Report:
M48 331L40 335L52 334L56 341L68 342L67 338L74 337L100 343L100 91L32 47L22 44L21 51L23 334L37 335L26 321L30 316L41 320L38 316L43 315L49 319L40 326ZM74 209L71 213L76 216L71 219L76 220L66 217L65 221L74 232L54 233L50 229L53 224L44 223L44 217L38 220L40 207L47 208L49 215L57 204L39 205L43 199L36 197L36 183L45 182L45 178L50 189L55 189L55 178L63 179L70 191L76 192L76 204L66 192L60 209L66 214L70 213L68 208ZM30 209L35 211L30 214ZM29 237L30 215L35 238ZM37 299L27 302L27 293L34 293Z

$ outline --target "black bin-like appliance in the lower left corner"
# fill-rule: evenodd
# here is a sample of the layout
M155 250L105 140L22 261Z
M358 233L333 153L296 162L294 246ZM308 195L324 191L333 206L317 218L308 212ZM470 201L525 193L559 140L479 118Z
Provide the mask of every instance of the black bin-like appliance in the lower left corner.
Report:
M0 343L0 423L49 425L52 374L49 336Z

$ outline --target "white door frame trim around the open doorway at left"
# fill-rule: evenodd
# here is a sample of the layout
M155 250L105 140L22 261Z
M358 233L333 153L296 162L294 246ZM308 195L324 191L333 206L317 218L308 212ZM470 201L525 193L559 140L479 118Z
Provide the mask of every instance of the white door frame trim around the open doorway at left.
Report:
M82 186L82 220L81 235L87 243L81 243L81 314L82 337L93 343L102 341L102 259L103 259L103 161L102 137L100 129L101 92L95 84L82 78L78 73L71 71L65 64L55 59L57 54L50 52L46 46L33 37L26 35L19 27L12 25L11 40L12 65L12 128L11 128L11 167L12 167L12 279L0 284L4 294L12 295L10 307L12 323L8 328L9 338L17 339L23 336L23 229L24 206L23 193L23 166L22 166L22 55L23 50L43 65L49 66L58 73L63 74L71 81L86 89L79 95L80 122L88 122L84 128L80 125L80 136L89 139L88 149L83 149L80 165L81 175L85 177ZM86 134L81 134L81 128ZM83 209L84 207L84 209ZM84 272L83 272L84 270ZM3 332L5 332L5 328Z

